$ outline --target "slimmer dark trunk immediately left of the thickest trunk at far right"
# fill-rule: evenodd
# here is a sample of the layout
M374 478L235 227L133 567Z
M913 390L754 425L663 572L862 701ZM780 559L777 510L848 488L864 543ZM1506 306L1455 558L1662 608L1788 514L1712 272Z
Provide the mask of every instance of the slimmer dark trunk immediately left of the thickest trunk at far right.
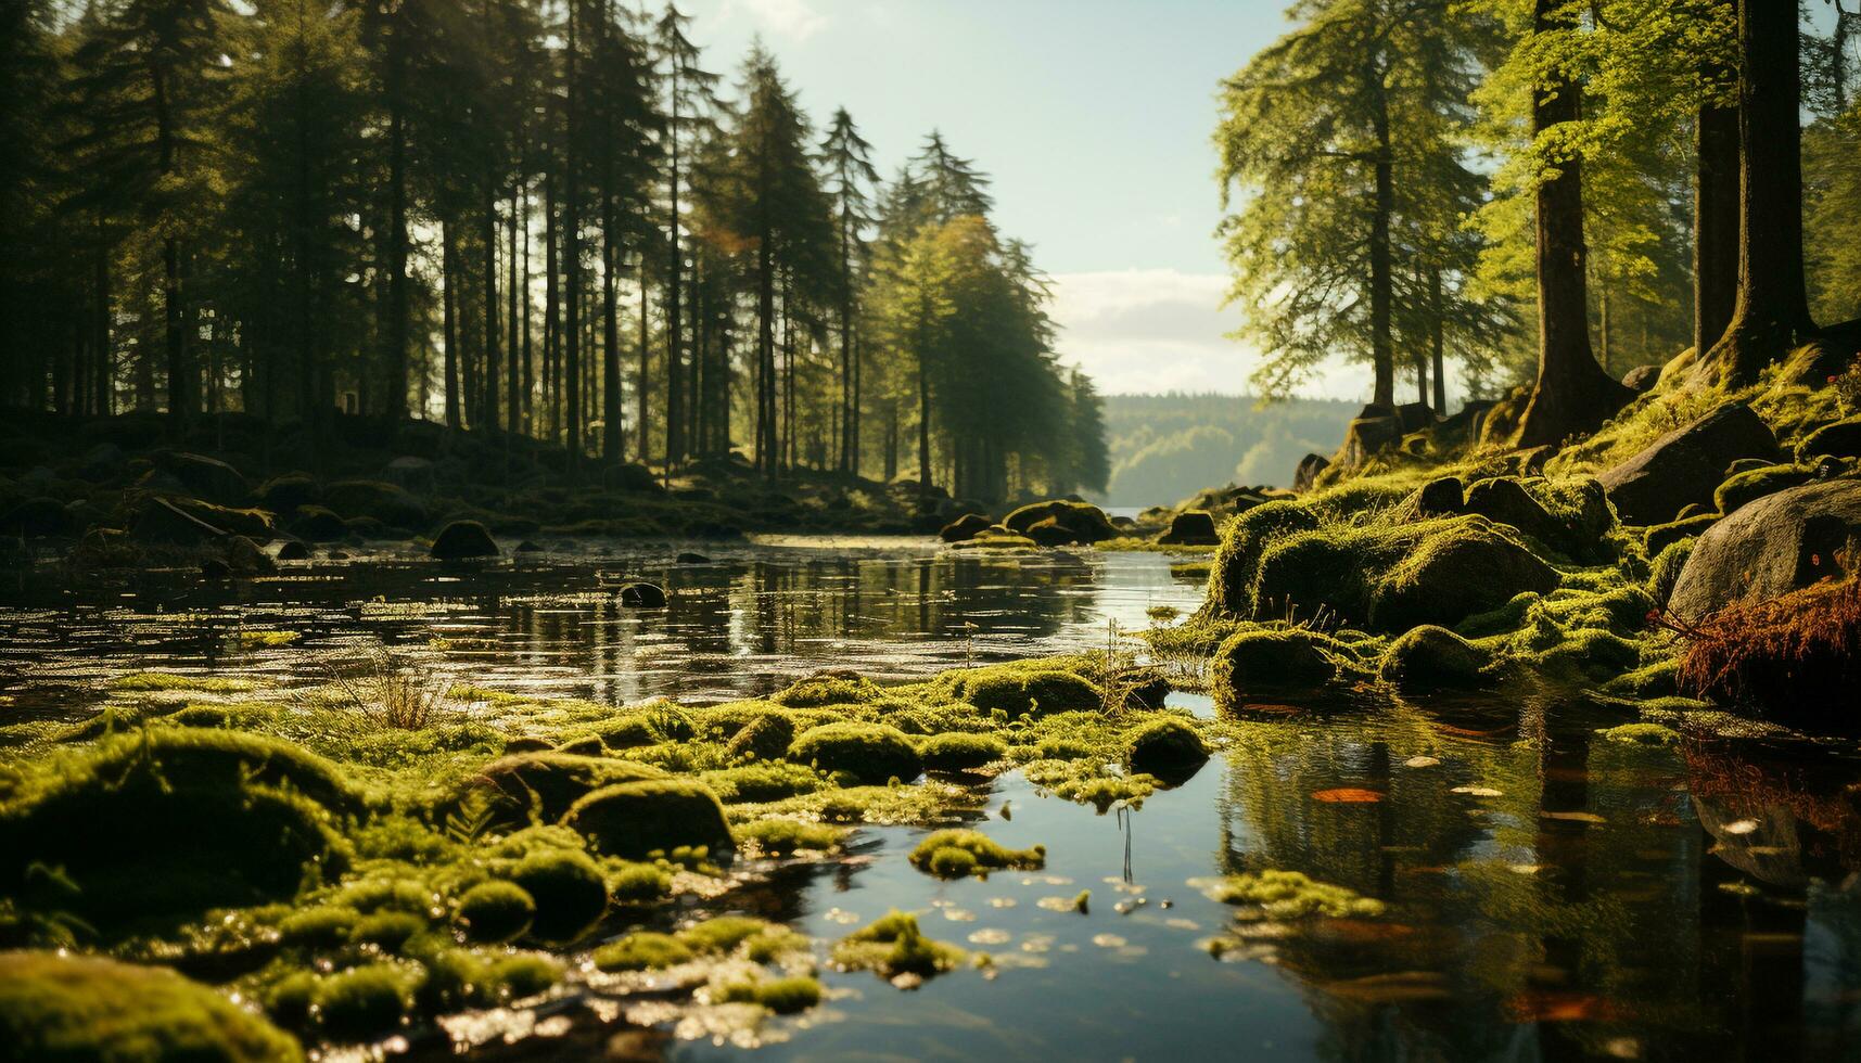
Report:
M1694 354L1705 356L1738 303L1738 106L1699 108L1695 147Z

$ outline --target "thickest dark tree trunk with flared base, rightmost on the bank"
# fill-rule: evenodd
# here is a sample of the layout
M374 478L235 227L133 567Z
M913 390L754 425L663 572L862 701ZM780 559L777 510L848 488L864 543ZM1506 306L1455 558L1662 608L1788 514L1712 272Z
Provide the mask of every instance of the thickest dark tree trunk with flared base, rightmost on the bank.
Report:
M1738 300L1712 348L1729 383L1814 337L1803 285L1803 160L1796 4L1738 11Z

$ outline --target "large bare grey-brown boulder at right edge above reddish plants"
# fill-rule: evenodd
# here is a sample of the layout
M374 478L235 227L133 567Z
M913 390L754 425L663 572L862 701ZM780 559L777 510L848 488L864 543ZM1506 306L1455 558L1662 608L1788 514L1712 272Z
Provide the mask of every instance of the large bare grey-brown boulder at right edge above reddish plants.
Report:
M1822 480L1757 499L1707 529L1667 599L1682 620L1764 601L1852 572L1861 480ZM1844 560L1848 558L1848 560Z

